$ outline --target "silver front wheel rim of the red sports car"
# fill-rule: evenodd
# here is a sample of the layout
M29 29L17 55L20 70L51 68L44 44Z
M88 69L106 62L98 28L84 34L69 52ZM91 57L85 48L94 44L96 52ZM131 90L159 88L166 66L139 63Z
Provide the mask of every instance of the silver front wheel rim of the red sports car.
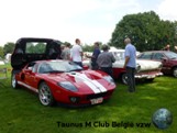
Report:
M46 85L41 86L38 92L40 100L42 104L48 106L52 101L52 93L49 88Z

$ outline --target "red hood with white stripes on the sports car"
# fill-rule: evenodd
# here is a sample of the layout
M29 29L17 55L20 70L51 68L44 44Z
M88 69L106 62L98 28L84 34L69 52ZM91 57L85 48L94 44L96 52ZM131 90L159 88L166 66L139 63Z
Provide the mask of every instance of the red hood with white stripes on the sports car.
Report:
M102 78L108 75L93 70L47 74L46 76L56 82L69 81L79 89L79 92L86 93L106 92L110 86L110 82Z

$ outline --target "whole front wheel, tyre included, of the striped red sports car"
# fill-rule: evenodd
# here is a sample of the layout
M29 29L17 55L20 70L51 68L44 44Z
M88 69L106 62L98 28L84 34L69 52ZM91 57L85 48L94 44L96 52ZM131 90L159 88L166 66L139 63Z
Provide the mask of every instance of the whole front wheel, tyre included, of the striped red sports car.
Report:
M53 106L55 102L52 91L45 81L40 84L38 99L41 103L46 107Z

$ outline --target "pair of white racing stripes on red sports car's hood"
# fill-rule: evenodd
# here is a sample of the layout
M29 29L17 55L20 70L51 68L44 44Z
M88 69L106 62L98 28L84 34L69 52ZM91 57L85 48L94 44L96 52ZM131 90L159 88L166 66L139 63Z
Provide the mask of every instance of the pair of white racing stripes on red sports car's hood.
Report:
M69 75L75 77L76 82L84 81L87 86L89 86L91 88L91 90L95 93L100 93L100 92L107 91L107 89L101 84L99 84L97 80L89 79L85 74L75 73L75 74L69 74Z

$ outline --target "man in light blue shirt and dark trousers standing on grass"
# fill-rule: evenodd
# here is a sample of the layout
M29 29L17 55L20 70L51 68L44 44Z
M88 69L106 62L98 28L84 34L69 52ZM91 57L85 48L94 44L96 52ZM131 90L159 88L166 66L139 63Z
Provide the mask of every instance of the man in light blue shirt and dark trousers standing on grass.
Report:
M136 67L136 48L134 45L131 44L131 40L129 37L124 40L124 43L125 43L124 68L126 69L129 92L135 92L134 75Z

